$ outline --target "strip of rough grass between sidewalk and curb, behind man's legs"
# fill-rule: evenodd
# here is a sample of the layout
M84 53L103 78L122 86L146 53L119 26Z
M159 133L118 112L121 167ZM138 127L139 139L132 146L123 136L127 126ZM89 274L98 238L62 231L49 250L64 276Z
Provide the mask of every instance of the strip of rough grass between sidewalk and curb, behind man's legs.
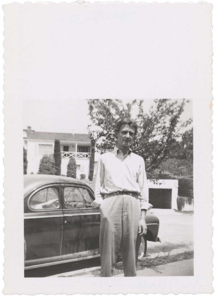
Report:
M174 255L168 254L167 256L157 256L155 258L144 257L144 258L141 258L138 260L137 270L142 270L142 269L154 267L157 265L163 265L163 264L182 261L182 260L191 259L191 258L194 258L193 251L183 252L183 253L174 254ZM120 273L123 273L122 262L115 263L113 276L120 274ZM82 272L80 274L75 274L75 275L71 275L71 276L78 276L78 275L80 276L80 275L84 275L84 274L85 274L85 272ZM100 268L90 271L90 274L95 277L99 277L100 276Z

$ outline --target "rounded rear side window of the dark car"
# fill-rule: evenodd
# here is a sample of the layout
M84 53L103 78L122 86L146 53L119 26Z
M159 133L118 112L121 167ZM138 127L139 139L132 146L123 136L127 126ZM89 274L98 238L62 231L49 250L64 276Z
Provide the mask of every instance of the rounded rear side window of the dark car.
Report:
M47 187L36 192L29 200L29 208L32 210L60 208L58 189L55 187Z

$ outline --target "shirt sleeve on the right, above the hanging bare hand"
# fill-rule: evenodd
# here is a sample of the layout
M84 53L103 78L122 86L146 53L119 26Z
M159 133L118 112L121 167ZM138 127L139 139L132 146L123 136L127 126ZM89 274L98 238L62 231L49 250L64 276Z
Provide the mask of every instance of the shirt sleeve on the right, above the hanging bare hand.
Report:
M143 158L141 159L137 182L140 188L139 199L141 209L149 210L153 208L153 205L149 204L148 202L148 182L145 173L145 162Z

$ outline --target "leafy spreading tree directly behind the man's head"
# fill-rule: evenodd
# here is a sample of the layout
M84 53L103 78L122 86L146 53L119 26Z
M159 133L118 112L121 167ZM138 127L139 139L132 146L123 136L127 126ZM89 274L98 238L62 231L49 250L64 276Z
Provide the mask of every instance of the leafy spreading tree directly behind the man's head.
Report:
M143 157L148 178L157 178L156 168L168 157L174 141L182 136L183 128L192 122L192 119L180 120L186 103L184 99L181 102L154 100L148 114L145 114L143 100L134 100L126 106L120 100L88 100L92 121L89 126L92 133L89 134L95 139L95 147L100 153L112 150L117 142L114 133L117 121L131 118L132 108L135 108L138 134L131 149Z

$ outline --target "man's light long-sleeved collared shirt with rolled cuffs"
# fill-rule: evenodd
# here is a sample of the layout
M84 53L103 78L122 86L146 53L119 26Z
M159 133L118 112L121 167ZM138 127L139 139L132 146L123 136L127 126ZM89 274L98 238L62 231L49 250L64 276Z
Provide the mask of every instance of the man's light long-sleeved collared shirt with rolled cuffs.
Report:
M144 159L131 149L126 155L117 147L100 155L95 175L95 200L98 207L105 194L132 191L139 195L141 209L151 209L148 203L148 184Z

